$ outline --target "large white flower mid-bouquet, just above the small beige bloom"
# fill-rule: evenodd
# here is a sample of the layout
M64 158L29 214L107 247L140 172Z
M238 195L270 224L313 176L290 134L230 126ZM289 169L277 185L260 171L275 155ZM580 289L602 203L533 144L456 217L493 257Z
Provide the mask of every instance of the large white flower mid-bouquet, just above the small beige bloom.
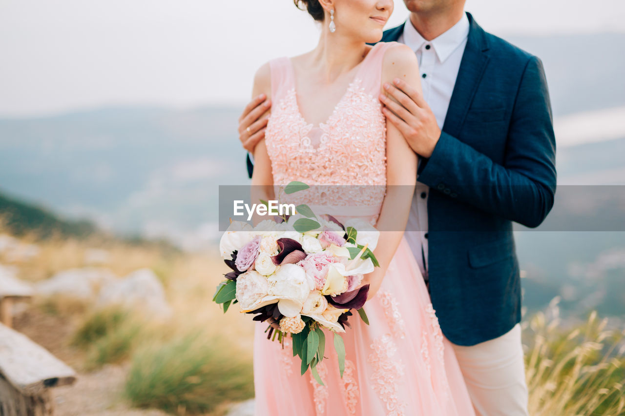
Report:
M267 278L267 282L268 294L279 299L277 305L280 313L291 318L301 312L304 300L314 289L304 269L295 264L281 265L275 274Z

